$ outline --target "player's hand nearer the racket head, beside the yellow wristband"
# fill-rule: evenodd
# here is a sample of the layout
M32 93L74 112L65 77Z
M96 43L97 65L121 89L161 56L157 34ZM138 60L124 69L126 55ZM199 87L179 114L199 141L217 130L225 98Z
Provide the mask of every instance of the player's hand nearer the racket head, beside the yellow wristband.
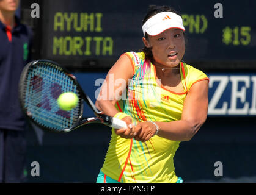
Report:
M126 122L127 128L115 129L115 133L122 138L126 138L126 139L134 138L133 119L131 119L130 116L126 116L122 120Z

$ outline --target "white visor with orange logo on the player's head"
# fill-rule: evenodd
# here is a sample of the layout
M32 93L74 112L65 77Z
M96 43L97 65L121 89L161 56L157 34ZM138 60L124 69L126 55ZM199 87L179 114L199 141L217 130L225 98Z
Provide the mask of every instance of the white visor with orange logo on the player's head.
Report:
M173 12L160 12L148 19L142 26L143 34L155 36L170 28L178 28L185 31L181 16Z

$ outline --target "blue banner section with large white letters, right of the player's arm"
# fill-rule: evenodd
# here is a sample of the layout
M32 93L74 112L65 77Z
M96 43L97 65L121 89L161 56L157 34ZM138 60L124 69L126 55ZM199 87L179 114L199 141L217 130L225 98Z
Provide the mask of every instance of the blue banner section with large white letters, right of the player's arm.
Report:
M208 115L256 116L256 74L208 76Z

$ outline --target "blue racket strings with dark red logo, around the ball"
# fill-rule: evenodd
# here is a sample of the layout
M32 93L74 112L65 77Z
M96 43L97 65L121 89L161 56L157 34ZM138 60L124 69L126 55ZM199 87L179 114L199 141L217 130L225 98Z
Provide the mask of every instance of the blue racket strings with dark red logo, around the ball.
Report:
M67 129L75 124L79 118L80 105L70 111L60 110L57 98L65 92L79 96L79 91L74 81L59 67L47 64L32 66L26 82L25 108L32 119L54 130Z

